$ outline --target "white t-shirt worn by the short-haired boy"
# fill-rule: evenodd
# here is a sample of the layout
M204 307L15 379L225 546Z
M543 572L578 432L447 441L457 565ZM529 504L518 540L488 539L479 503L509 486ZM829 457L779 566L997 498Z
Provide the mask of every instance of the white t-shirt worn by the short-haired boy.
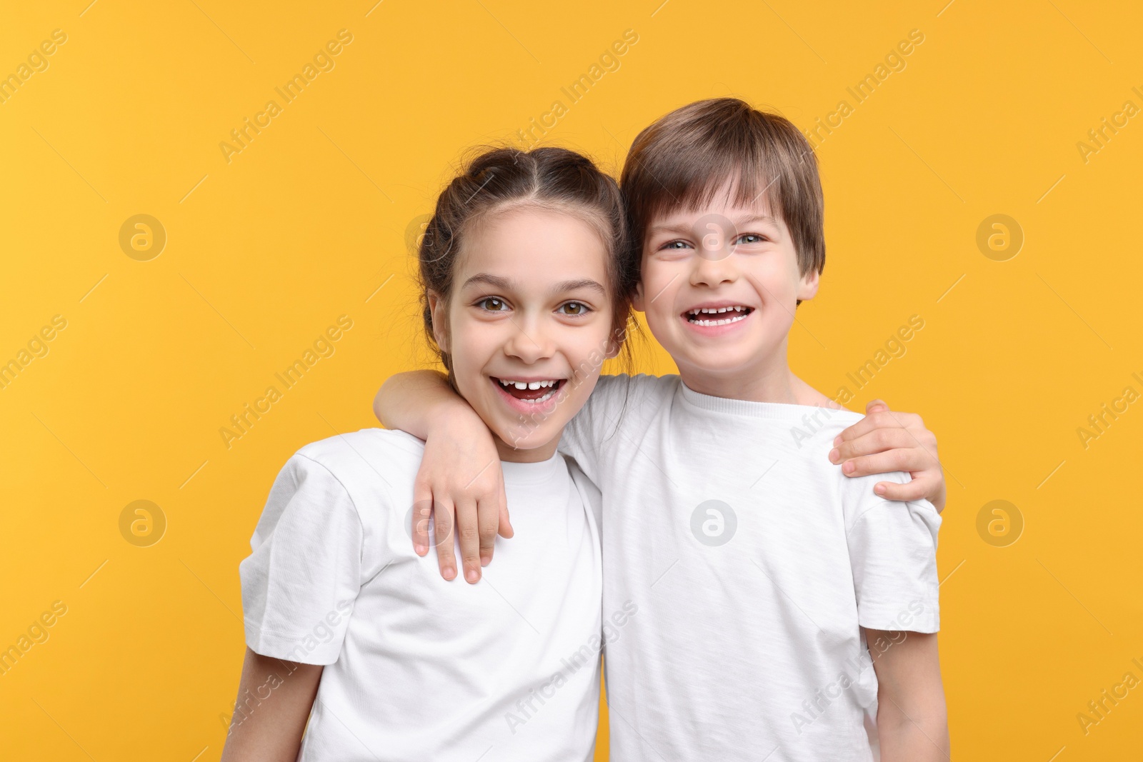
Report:
M612 759L870 760L861 627L936 632L941 518L829 462L862 416L604 377L561 449L602 491Z

